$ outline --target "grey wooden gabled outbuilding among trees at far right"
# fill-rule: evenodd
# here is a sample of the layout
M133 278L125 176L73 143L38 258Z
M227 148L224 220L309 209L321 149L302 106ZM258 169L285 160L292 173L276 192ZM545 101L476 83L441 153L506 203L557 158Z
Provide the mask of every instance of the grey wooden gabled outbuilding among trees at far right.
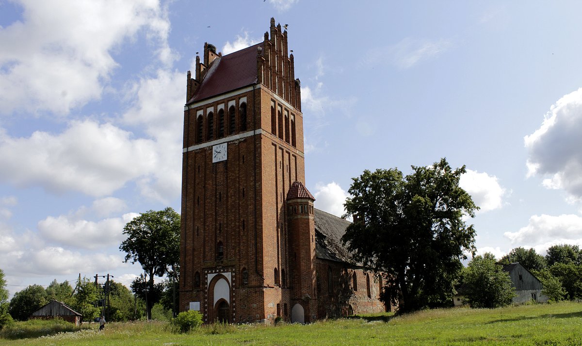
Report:
M544 287L541 281L519 262L503 264L503 271L509 273L509 278L515 287L517 296L513 297L513 303L525 303L532 300L541 303L548 302L548 296L542 295Z

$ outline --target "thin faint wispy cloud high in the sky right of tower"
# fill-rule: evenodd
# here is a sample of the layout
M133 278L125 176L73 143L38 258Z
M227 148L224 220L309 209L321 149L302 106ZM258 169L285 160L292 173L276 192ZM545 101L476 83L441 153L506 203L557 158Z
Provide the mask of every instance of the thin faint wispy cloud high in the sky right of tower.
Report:
M438 57L451 47L453 44L450 40L429 41L407 37L397 44L368 51L359 65L371 67L388 62L400 69L408 69L417 63Z

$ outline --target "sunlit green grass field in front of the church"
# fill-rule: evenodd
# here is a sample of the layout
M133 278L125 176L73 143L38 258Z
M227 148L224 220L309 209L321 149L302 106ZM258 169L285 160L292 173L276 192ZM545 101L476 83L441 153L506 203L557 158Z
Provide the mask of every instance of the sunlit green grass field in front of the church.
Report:
M387 320L387 322L386 322ZM3 334L0 334L3 335ZM0 345L582 345L582 303L438 309L282 326L204 326L173 334L167 323L111 323Z

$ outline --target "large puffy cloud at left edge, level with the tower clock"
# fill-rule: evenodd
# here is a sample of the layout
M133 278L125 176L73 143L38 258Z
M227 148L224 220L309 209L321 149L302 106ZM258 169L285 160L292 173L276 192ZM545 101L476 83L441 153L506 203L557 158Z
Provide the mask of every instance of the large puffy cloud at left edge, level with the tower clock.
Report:
M0 176L17 186L111 195L158 168L156 143L132 137L111 123L90 120L72 122L59 135L37 131L13 138L0 133Z

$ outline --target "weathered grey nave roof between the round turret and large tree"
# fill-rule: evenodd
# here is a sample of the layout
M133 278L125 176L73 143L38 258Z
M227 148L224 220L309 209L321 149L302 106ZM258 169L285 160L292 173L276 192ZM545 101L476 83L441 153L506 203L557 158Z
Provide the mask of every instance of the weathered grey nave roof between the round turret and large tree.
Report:
M343 218L315 209L315 256L320 259L353 265L353 257L343 246L342 236L351 223Z

